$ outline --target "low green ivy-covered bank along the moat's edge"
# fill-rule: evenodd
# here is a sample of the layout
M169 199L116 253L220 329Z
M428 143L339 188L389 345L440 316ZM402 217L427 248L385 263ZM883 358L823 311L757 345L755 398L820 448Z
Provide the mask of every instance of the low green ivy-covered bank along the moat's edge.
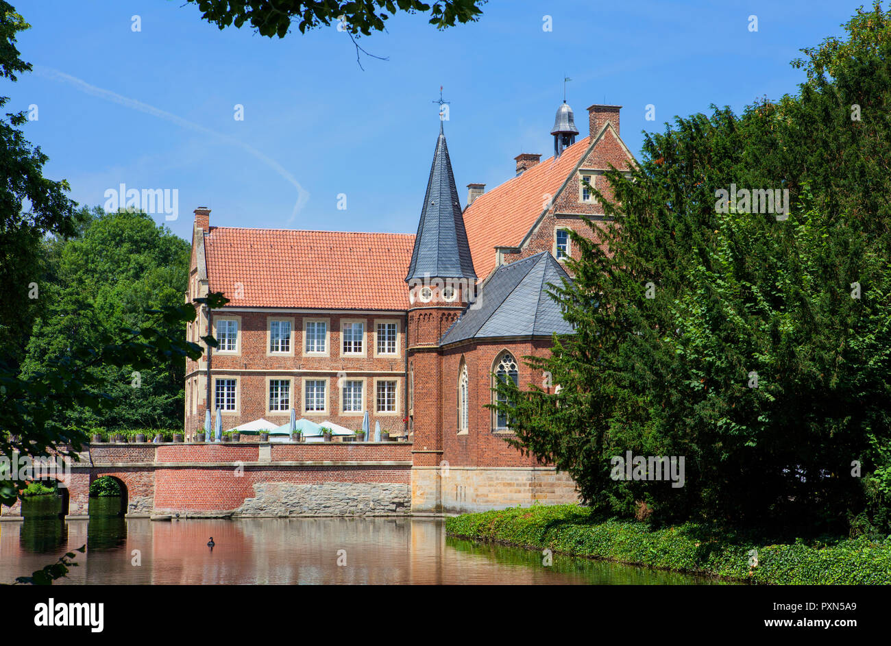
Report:
M602 519L576 505L464 514L446 519L446 533L759 584L891 584L887 537L878 542L861 537L834 544L765 545L716 536L692 524L653 529L645 522Z

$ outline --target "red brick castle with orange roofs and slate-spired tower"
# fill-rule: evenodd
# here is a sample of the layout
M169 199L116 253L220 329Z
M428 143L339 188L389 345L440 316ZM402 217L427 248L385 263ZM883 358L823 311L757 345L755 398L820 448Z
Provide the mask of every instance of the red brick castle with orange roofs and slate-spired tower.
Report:
M609 198L604 171L633 163L619 106L588 116L576 141L564 102L554 155L518 155L490 191L469 184L464 209L440 123L415 235L219 227L195 209L186 298L229 302L188 324L189 340L209 331L219 347L187 362L186 435L217 408L224 428L284 424L293 408L359 429L367 411L412 443L413 511L575 501L568 477L504 442L507 421L486 405L498 377L542 384L523 357L571 332L547 284L568 277L568 230L599 240L604 217L583 179Z

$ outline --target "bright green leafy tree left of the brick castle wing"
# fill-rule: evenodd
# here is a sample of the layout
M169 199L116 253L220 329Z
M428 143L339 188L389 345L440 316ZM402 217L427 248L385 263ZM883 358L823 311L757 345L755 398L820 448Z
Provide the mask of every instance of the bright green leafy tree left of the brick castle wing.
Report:
M22 373L45 372L69 356L73 342L96 343L103 335L119 337L143 323L144 309L173 307L183 301L190 247L164 225L140 212L101 210L80 236L63 242L58 253L57 284L50 305L37 318ZM167 327L169 336L184 329ZM167 362L149 370L95 365L101 388L114 406L59 410L61 426L80 423L108 429L172 428L182 425L184 363Z

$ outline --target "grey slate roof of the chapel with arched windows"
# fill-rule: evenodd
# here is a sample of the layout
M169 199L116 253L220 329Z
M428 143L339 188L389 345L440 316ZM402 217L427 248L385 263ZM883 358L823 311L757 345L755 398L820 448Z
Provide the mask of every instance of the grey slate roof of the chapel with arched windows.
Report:
M498 267L439 345L487 337L571 334L560 306L548 296L548 283L560 285L569 274L548 251Z

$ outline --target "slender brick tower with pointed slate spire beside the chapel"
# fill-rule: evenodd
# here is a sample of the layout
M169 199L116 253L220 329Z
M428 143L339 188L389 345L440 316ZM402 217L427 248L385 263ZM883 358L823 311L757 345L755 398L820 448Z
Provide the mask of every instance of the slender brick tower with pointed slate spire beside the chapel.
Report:
M410 301L406 333L413 466L439 468L443 451L439 339L474 297L477 283L442 121L405 282Z

